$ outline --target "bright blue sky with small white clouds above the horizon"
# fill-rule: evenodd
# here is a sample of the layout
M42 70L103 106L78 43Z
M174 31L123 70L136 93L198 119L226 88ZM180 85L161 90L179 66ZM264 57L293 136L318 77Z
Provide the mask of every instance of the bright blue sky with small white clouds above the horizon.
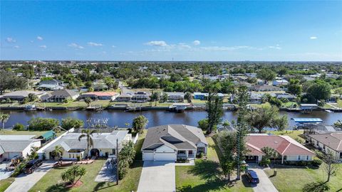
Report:
M342 1L2 1L2 60L342 60Z

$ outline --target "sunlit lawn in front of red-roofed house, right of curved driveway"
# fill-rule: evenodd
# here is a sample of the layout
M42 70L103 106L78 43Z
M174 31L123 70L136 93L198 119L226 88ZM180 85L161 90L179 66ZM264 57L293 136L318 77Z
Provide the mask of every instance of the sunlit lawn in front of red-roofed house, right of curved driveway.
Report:
M329 185L331 191L342 191L342 164L338 164L340 170L336 176L331 177ZM323 164L319 169L309 168L278 168L276 176L273 175L273 169L265 170L274 186L280 192L302 191L306 183L314 181L326 181L326 172L323 171Z

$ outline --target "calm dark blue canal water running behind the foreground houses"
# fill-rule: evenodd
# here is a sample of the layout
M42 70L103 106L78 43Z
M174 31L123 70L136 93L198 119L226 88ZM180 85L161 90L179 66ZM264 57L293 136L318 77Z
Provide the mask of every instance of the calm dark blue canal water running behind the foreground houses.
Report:
M103 112L89 112L89 111L43 111L43 112L24 112L24 111L2 111L11 114L5 127L12 127L16 123L28 124L27 122L33 117L51 117L56 119L63 119L66 117L75 117L86 122L90 118L108 118L108 125L110 127L118 126L125 127L125 123L131 123L132 119L139 114L145 115L148 119L147 127L154 127L162 124L188 124L197 126L200 119L207 116L205 111L187 111L183 113L174 113L166 111L145 111L145 112L122 112L122 111L108 111ZM293 117L318 117L323 119L325 124L333 124L338 119L342 120L342 113L328 113L328 112L313 112L311 114L301 114L299 112L281 112L287 114L289 118L289 127L294 127ZM237 118L236 112L225 112L223 119L229 122Z

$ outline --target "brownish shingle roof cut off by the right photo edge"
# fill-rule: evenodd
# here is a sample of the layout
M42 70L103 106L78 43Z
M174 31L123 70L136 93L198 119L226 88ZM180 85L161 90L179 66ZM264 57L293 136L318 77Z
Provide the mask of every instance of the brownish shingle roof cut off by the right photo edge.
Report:
M335 151L342 151L342 133L310 134L309 137L316 139Z

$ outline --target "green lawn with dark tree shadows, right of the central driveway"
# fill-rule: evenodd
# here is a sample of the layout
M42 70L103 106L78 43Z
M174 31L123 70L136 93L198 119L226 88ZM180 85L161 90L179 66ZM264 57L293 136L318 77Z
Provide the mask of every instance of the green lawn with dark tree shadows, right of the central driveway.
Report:
M253 191L246 181L228 186L227 181L222 180L218 148L212 137L207 137L207 142L207 160L198 159L195 166L176 166L177 191Z

